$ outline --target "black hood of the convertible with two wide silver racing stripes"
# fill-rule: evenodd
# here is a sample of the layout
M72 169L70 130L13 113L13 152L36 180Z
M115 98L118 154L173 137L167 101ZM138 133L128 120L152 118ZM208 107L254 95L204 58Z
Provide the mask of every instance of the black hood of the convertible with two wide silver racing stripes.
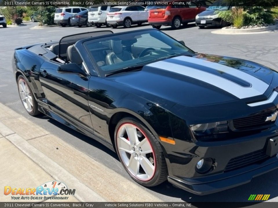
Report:
M154 62L140 71L114 76L113 81L150 101L196 106L266 99L273 90L269 87L273 73L254 62L197 54Z

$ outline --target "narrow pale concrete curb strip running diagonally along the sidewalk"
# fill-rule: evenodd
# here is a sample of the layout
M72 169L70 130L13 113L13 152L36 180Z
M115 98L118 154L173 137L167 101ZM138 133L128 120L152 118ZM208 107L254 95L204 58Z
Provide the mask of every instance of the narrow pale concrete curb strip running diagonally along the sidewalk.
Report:
M6 125L0 122L0 133L5 135L5 133L13 132ZM64 168L54 162L52 159L41 153L34 146L29 144L25 139L19 136L17 133L11 133L4 136L9 140L14 146L20 149L25 155L27 155L32 161L34 161L38 166L40 166L45 172L47 172L52 178L57 181L66 181L69 187L78 187L78 192L75 193L76 197L81 202L91 201L94 198L96 202L106 202L104 198L99 196L92 189L84 185L72 174L67 172Z

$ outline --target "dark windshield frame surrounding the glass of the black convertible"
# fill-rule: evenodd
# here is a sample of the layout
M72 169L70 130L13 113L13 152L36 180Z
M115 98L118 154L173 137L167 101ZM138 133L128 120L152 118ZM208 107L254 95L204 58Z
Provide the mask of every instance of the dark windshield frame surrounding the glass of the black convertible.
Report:
M89 51L87 45L88 45L88 44L91 44L92 42L95 42L95 41L96 41L96 42L102 41L102 40L105 41L105 40L107 40L107 38L110 38L110 40L111 40L113 37L116 38L116 37L119 36L119 35L125 35L125 34L128 34L128 33L146 32L146 34L147 34L147 33L148 33L147 31L159 31L159 30L150 28L150 29L141 29L141 30L136 30L136 31L121 32L121 33L116 33L116 34L115 34L115 33L114 33L114 34L108 34L108 35L104 35L104 36L98 36L98 37L94 37L94 38L87 38L87 39L85 39L85 40L80 40L80 41L78 41L78 43L76 43L76 45L77 45L77 44L78 44L78 45L81 45L81 44L82 44L83 48L85 49L85 51L86 51L87 54L88 54L89 59L90 59L91 62L93 63L94 68L97 70L98 75L99 75L100 77L106 77L105 75L106 75L107 73L111 73L111 72L113 72L113 71L121 70L122 68L127 68L127 67L122 67L122 68L113 69L113 70L103 70L103 69L101 69L101 68L98 66L98 64L96 63L96 60L94 59L93 54ZM179 45L184 46L186 49L188 49L187 52L188 52L190 55L193 56L193 55L196 54L193 50L191 50L189 47L187 47L187 46L181 44L178 40L172 38L171 36L165 34L165 33L162 32L162 31L159 31L159 32L161 32L162 34L164 34L164 35L167 36L168 38L174 40L174 41L177 42ZM82 43L80 43L80 42L82 42ZM185 52L186 52L186 51L184 51L183 53L180 53L180 55L184 55ZM168 55L168 56L170 56L170 55ZM177 55L177 56L178 56L178 55ZM128 67L136 67L136 66L140 66L140 65L145 66L145 65L147 65L147 64L151 64L151 63L153 63L153 62L157 62L157 61L163 60L163 59L167 59L167 57L165 56L165 58L161 57L161 58L157 58L157 59L154 59L154 60L142 62L141 64L140 64L140 63L138 63L138 64L132 64L132 65L130 65L130 66L128 66ZM129 61L130 61L130 60L125 61L125 62L129 62Z

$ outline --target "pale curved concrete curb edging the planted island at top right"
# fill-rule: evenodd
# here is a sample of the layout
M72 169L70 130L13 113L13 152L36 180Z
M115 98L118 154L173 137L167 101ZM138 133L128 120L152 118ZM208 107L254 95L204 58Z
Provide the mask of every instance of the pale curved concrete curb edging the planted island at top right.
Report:
M219 30L211 31L213 34L223 34L223 35L235 35L235 34L257 34L261 32L269 32L278 29L277 25L272 25L268 27L250 28L250 29L228 29L223 27Z

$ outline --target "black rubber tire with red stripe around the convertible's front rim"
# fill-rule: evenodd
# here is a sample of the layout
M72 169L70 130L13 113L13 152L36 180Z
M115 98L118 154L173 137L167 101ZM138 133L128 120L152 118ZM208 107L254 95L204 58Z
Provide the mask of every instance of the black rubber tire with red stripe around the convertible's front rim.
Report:
M125 125L125 124L128 124L128 125L131 124L131 125L136 126L136 129L138 129L139 131L142 132L141 135L144 135L145 138L147 138L147 140L149 141L149 144L153 151L153 153L150 153L149 160L151 161L151 159L153 159L152 162L154 164L155 169L154 169L153 175L148 180L140 180L136 176L134 176L127 169L125 162L122 160L121 154L118 149L117 135L118 135L118 130L120 130L122 125ZM168 171L167 171L167 165L166 165L165 157L163 155L162 148L158 142L158 139L147 129L147 127L142 122L140 122L139 120L137 120L135 118L131 118L131 117L123 118L122 120L120 120L116 126L114 141L115 141L115 147L116 147L117 154L120 158L120 161L121 161L123 167L125 168L125 170L128 172L129 176L134 181L136 181L137 183L139 183L143 186L151 187L151 186L159 185L160 183L164 182L167 179ZM140 151L142 151L141 147L140 147ZM151 157L154 157L154 158L151 158ZM140 167L142 170L142 166L140 166Z

